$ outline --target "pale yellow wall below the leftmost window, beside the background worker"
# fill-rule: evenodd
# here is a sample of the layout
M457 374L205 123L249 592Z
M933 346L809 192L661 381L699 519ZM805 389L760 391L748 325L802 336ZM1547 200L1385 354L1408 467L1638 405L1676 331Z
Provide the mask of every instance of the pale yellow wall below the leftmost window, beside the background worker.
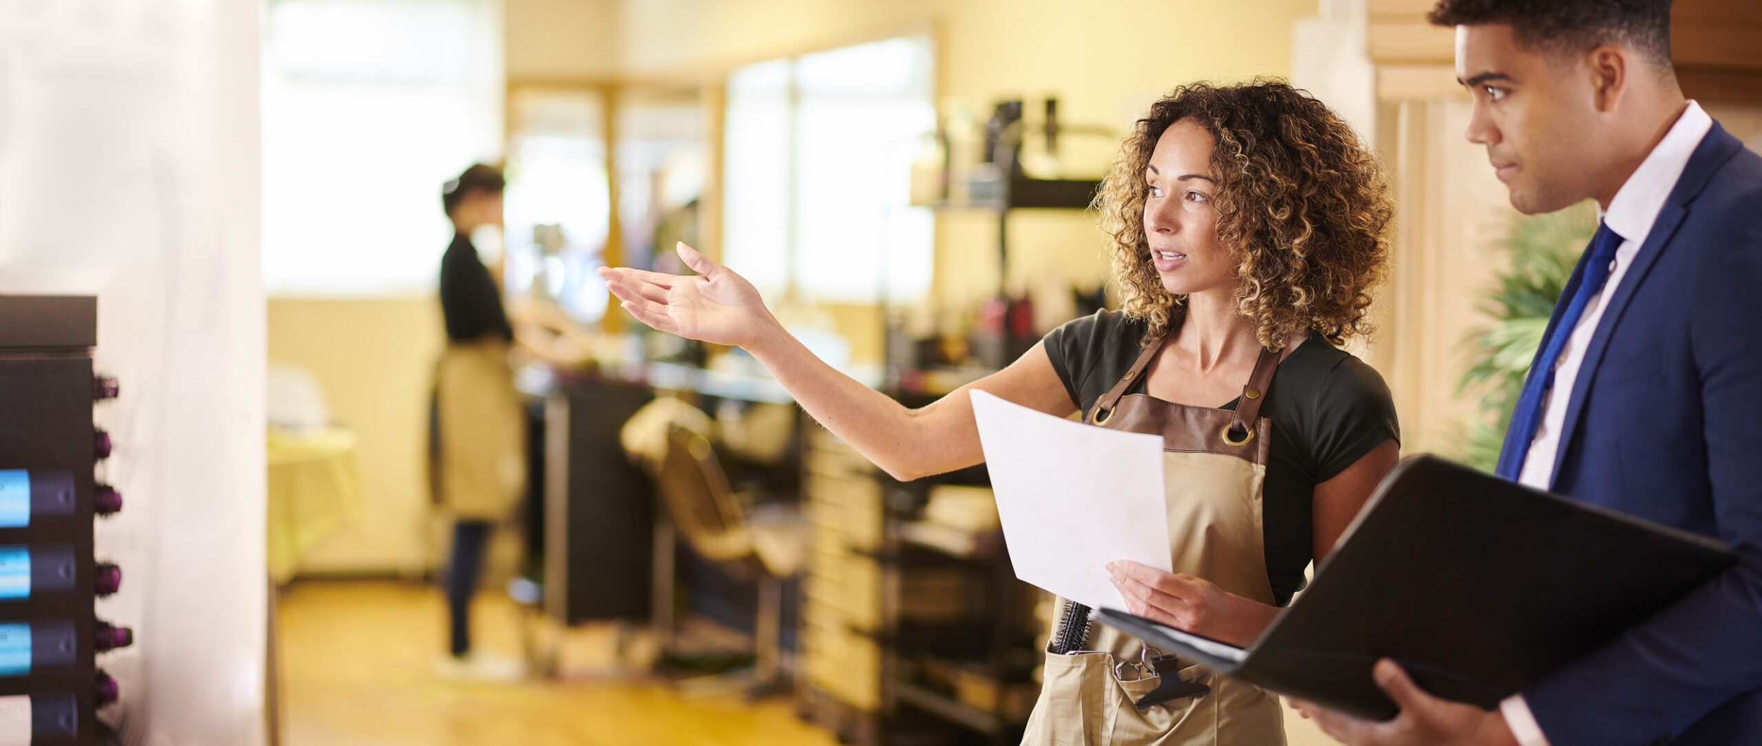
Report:
M270 362L312 370L331 416L361 439L366 515L319 545L301 570L425 570L428 390L444 337L433 296L270 298Z

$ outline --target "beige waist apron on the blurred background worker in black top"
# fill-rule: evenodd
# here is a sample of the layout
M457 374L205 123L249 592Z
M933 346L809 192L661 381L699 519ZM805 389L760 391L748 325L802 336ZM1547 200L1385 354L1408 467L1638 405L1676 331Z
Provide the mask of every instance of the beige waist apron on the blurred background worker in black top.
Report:
M527 423L507 342L449 342L435 367L440 506L456 520L504 520L525 490Z

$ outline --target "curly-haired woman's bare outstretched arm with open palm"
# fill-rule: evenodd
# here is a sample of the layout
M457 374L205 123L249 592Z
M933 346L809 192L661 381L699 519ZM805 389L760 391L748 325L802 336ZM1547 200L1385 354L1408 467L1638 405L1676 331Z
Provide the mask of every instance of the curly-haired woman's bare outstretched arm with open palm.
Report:
M752 354L814 420L899 480L960 469L983 460L973 420L973 388L1048 414L1077 411L1036 344L1010 367L907 409L816 358L765 309L745 279L680 243L678 254L700 277L606 268L606 286L638 321L661 332Z

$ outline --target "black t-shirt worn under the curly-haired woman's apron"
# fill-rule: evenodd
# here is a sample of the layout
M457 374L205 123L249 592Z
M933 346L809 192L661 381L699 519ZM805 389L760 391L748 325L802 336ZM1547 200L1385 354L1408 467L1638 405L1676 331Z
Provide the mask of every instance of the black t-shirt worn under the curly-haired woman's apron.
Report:
M1144 333L1144 321L1129 321L1117 310L1099 310L1047 335L1052 369L1080 411L1089 411L1126 376L1144 351L1138 346ZM1149 376L1140 376L1126 393L1144 393L1145 377ZM1235 404L1221 409L1235 409ZM1283 607L1292 594L1302 591L1304 566L1313 559L1314 487L1346 471L1383 441L1399 441L1401 429L1383 377L1316 333L1274 370L1260 416L1272 421L1267 481L1262 489L1267 578L1272 582L1274 600Z

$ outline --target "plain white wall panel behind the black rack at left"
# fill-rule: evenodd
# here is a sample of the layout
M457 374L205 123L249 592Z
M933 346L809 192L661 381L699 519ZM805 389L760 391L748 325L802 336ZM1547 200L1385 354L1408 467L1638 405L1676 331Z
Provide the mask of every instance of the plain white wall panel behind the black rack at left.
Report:
M132 744L264 741L261 2L0 0L0 293L99 296Z

